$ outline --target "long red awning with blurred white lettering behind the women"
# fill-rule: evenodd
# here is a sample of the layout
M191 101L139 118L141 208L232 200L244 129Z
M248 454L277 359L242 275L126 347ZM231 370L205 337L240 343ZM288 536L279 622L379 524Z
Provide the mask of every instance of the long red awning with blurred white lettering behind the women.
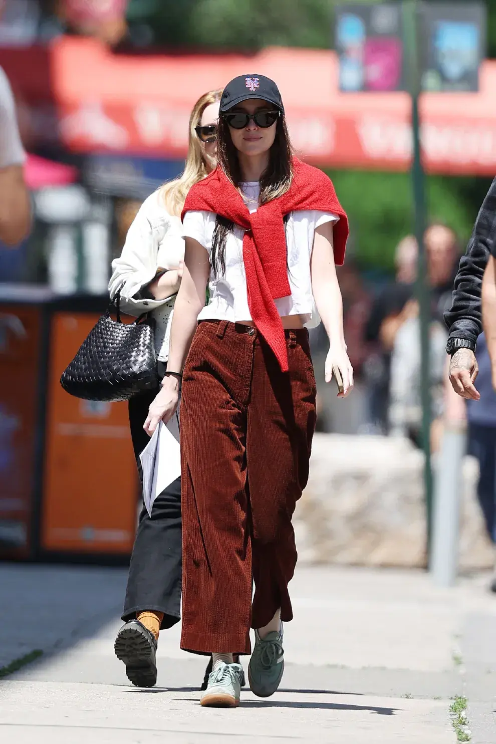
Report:
M133 56L113 54L95 39L66 36L49 54L59 133L77 152L184 157L198 97L237 74L259 73L277 81L294 147L307 160L385 170L405 170L410 162L408 95L341 94L332 51ZM422 97L427 170L496 173L495 92L496 62L489 61L481 68L479 93Z

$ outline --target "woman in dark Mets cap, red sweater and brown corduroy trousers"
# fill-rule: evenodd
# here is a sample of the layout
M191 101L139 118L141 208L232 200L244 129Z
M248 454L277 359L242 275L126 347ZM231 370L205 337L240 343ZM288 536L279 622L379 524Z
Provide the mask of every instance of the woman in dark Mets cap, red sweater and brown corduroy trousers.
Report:
M343 396L352 368L335 272L348 225L332 183L292 156L272 80L231 80L220 112L219 167L184 205L184 275L147 426L173 415L184 367L181 647L213 652L202 705L233 707L242 673L233 652L250 653L250 625L251 690L270 696L283 673L281 620L292 619L297 559L292 514L315 426L305 325L318 313L329 334L326 380L337 368Z

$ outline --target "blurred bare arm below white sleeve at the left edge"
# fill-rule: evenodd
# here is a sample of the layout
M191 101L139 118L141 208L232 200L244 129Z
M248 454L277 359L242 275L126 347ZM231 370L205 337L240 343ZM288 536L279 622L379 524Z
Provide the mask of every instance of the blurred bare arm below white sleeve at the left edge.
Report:
M31 210L28 188L21 165L0 169L0 240L16 246L30 231Z

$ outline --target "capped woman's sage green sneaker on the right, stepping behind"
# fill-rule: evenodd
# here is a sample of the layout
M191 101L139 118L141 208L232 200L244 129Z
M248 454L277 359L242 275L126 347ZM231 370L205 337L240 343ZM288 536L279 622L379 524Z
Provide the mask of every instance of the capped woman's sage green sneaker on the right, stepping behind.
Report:
M284 651L283 629L260 638L255 631L255 647L248 666L251 692L259 697L274 695L283 679Z

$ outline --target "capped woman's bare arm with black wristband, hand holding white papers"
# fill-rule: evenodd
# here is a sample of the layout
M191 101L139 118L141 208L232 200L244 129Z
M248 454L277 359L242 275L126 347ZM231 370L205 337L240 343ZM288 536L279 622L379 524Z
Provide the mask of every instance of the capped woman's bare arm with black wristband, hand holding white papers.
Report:
M210 261L205 248L193 238L186 238L184 270L175 300L173 323L170 329L170 348L167 371L181 373L190 350L191 341L196 330L199 312L205 304ZM166 375L162 380L161 391L149 407L149 414L144 423L147 434L152 434L158 422L167 423L178 405L179 380L173 375Z

